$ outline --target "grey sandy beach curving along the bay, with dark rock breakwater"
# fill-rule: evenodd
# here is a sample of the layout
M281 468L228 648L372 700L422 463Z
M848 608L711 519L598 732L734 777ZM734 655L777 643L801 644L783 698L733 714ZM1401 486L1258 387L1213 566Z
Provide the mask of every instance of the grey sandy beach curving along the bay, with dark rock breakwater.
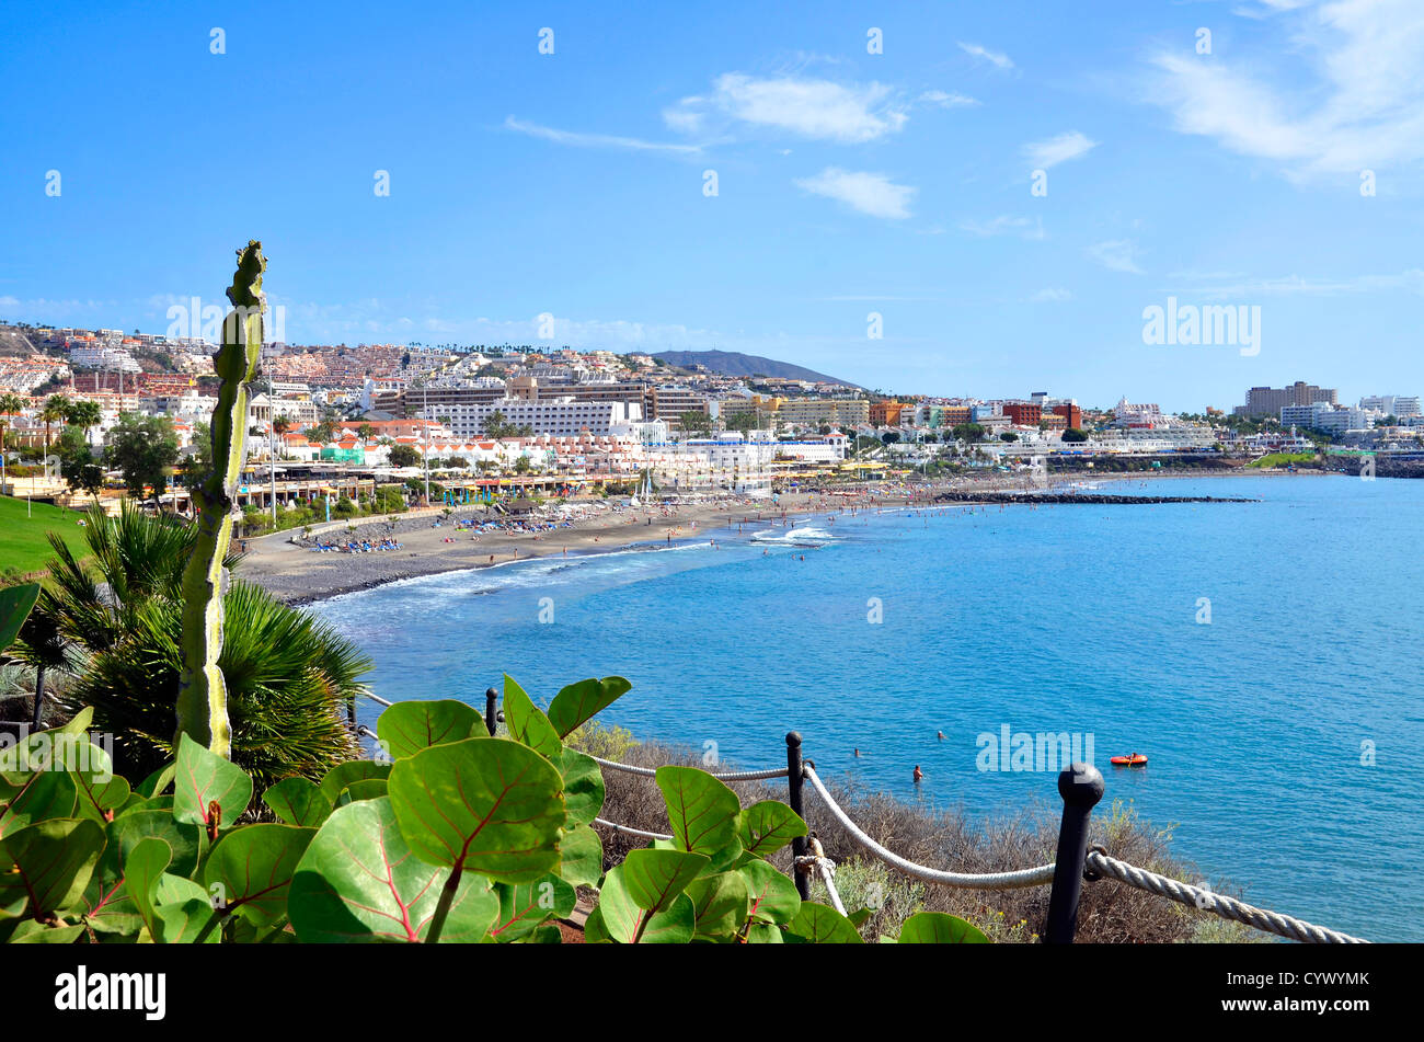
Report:
M1302 477L1289 471L1256 471L1242 474L1074 474L1071 483L1131 483L1162 478L1227 478L1227 477ZM1327 474L1319 474L1327 477ZM315 554L308 547L292 542L293 534L275 532L249 541L249 551L242 558L238 578L253 582L272 596L292 606L303 606L345 594L376 589L406 579L426 575L443 575L459 571L501 567L518 561L533 561L548 557L591 557L612 551L644 549L655 552L671 547L684 547L698 540L708 541L716 534L733 531L736 535L750 535L775 527L793 527L803 518L824 510L839 511L843 505L874 508L906 508L927 505L944 508L948 501L936 502L934 497L944 493L1005 493L1024 491L1022 477L998 475L973 483L946 481L920 488L863 490L856 497L836 494L786 493L776 504L728 498L711 502L685 504L671 510L661 504L639 508L608 508L597 511L592 502L572 505L587 507L590 517L578 520L567 530L550 532L457 531L443 517L430 515L397 521L397 535L402 549L372 551L369 554ZM1065 483L1059 483L1065 484ZM988 501L985 501L988 502ZM963 502L973 507L973 502ZM597 511L597 512L594 512ZM453 520L483 520L483 510L459 510ZM434 522L440 524L436 525ZM379 518L363 518L359 530L369 527L379 535L384 522ZM403 528L403 530L402 530ZM477 537L477 538L473 538Z

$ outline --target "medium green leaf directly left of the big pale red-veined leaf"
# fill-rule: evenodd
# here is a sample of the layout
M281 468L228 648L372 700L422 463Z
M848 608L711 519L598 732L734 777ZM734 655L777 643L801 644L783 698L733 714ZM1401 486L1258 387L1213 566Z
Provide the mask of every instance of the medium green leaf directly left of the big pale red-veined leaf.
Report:
M286 915L286 894L315 828L251 824L224 836L202 867L202 881L226 915L268 927Z

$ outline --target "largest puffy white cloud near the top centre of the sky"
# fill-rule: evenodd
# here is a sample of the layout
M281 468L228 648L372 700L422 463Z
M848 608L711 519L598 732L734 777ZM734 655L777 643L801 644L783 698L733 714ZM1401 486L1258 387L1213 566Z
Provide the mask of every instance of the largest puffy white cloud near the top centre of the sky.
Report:
M689 97L664 111L674 130L701 127L715 111L728 120L790 131L797 137L843 144L874 141L899 131L909 118L879 83L839 84L795 75L756 78L725 73L709 97Z

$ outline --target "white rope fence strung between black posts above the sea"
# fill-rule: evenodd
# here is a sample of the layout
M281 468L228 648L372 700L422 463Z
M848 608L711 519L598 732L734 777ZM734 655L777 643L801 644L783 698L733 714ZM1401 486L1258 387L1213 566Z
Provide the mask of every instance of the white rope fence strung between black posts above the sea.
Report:
M366 692L367 698L390 706L392 703ZM503 710L496 709L498 692L490 688L486 692L486 725L491 735L496 733L496 723L504 719ZM350 703L352 726L363 737L376 737L369 727L356 723L355 699ZM656 777L655 767L635 767L628 763L605 760L601 756L591 756L600 767L634 774L638 777ZM967 890L1020 890L1027 887L1051 885L1048 902L1048 922L1044 928L1044 941L1048 944L1071 944L1078 927L1078 901L1082 894L1082 883L1096 883L1111 878L1128 887L1135 887L1145 893L1175 901L1199 911L1208 911L1226 920L1242 922L1267 934L1276 934L1292 941L1304 944L1368 944L1368 941L1351 937L1350 934L1317 927L1293 915L1257 908L1239 901L1226 894L1216 894L1205 887L1173 880L1168 875L1141 868L1126 861L1109 857L1106 850L1095 847L1088 850L1088 823L1092 809L1102 799L1105 783L1101 772L1092 764L1069 764L1058 776L1058 791L1064 799L1064 817L1058 833L1058 854L1049 864L1032 868L1018 868L1001 873L954 873L943 868L931 868L900 857L893 850L876 843L856 821L844 807L826 789L816 773L816 764L803 760L800 753L800 735L790 732L786 736L786 766L769 767L765 770L742 770L712 774L719 782L763 782L770 779L786 779L790 790L790 809L805 820L802 806L803 783L809 782L810 789L826 806L830 816L846 830L846 834L859 844L867 854L890 865L903 875L921 880L941 887L960 887ZM664 833L634 828L632 826L608 821L595 817L594 824L612 830L615 834L632 836L644 840L671 840L672 836ZM836 863L826 857L820 840L813 836L796 837L792 840L792 864L795 868L795 883L802 900L810 897L810 881L819 878L830 897L830 904L842 915L846 914L844 904L836 890Z

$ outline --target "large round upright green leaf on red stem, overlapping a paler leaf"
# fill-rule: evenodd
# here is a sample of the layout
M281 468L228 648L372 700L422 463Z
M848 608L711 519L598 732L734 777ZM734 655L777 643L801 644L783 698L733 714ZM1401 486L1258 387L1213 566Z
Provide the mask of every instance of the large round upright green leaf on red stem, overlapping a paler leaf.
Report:
M464 739L397 760L390 804L406 843L431 864L528 883L558 870L564 780L507 739Z

